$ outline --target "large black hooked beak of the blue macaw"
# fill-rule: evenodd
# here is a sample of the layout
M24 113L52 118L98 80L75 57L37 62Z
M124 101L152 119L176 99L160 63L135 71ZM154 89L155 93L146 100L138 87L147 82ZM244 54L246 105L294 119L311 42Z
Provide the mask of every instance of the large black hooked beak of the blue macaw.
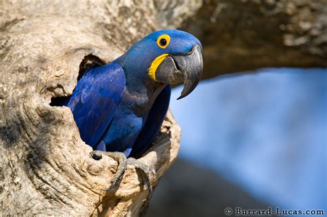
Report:
M163 83L184 82L184 88L181 91L181 96L178 98L182 99L197 87L203 68L204 62L201 47L195 45L185 55L167 56L158 66L155 78Z

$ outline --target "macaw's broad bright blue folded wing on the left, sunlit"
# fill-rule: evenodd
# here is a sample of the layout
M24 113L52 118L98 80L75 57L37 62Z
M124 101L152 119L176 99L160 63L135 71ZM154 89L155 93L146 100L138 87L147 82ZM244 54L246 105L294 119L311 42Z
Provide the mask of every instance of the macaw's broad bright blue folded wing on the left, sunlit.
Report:
M97 147L106 134L125 88L125 73L110 63L92 67L78 81L67 106L84 142Z

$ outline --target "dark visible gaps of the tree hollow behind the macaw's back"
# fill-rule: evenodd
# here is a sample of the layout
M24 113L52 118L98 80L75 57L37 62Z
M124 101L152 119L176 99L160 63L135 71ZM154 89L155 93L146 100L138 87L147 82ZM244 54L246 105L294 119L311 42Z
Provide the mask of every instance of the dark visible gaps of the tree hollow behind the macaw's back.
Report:
M79 76L77 76L77 82L81 77L85 74L85 72L93 65L105 65L106 63L104 61L101 61L99 57L88 54L84 56L84 59L81 61L81 64L79 64ZM59 96L59 97L52 97L50 105L51 106L64 106L67 105L67 103L70 100L70 96Z

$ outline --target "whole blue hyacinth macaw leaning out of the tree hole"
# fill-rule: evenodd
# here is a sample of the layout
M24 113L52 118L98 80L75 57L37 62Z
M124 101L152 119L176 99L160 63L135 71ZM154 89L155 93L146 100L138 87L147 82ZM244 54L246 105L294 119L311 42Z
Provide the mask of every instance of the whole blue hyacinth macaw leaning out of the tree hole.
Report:
M160 30L111 63L92 66L79 79L66 106L82 140L95 150L92 156L106 154L119 161L109 189L131 163L145 172L151 190L148 174L154 170L132 157L144 154L159 132L168 110L170 84L184 82L181 99L195 89L202 69L202 45L196 37Z

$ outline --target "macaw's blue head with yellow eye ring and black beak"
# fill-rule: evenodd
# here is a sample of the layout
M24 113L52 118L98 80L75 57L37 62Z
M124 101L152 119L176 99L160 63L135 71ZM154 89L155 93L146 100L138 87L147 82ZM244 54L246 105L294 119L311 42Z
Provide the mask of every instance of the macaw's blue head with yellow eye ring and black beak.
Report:
M184 83L178 99L195 89L203 70L202 45L196 37L180 30L152 32L124 54L144 78L159 83ZM141 69L141 70L139 70ZM140 72L141 71L141 72Z

